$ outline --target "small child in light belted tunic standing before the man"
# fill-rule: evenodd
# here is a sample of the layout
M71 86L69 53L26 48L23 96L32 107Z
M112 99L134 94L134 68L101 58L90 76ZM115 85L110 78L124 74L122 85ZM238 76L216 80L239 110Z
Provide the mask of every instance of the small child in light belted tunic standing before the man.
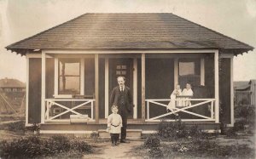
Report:
M117 145L119 133L121 133L122 117L117 113L119 111L116 105L111 107L112 114L108 116L108 132L110 133L112 145Z

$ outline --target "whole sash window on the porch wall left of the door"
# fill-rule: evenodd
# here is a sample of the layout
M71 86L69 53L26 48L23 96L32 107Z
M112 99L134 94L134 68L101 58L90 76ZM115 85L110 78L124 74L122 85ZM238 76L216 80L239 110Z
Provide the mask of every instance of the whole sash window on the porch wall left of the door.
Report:
M59 59L59 94L80 94L79 59Z

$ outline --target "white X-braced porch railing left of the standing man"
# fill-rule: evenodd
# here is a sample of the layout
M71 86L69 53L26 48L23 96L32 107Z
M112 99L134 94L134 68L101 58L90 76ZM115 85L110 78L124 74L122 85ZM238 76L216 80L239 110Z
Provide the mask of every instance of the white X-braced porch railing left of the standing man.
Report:
M88 115L94 121L95 99L45 99L45 122L69 121L70 115Z

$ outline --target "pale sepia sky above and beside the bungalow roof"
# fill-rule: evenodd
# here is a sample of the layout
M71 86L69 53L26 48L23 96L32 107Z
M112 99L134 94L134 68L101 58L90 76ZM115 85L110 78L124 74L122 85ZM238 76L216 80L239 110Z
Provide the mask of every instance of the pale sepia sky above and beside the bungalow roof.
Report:
M256 0L0 0L0 79L26 82L26 57L4 47L85 13L172 13L256 47ZM234 58L234 81L256 79L256 49Z

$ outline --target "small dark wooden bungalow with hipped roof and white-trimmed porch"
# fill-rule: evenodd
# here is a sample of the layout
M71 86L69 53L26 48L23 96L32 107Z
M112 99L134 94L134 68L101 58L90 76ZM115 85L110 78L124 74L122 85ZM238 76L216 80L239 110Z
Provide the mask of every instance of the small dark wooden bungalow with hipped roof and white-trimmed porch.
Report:
M128 136L153 133L161 120L174 122L175 112L208 131L233 126L233 57L253 50L175 14L83 14L6 48L26 55L26 126L101 133L121 75L135 105ZM172 90L186 82L193 98L176 101L191 105L167 113Z

